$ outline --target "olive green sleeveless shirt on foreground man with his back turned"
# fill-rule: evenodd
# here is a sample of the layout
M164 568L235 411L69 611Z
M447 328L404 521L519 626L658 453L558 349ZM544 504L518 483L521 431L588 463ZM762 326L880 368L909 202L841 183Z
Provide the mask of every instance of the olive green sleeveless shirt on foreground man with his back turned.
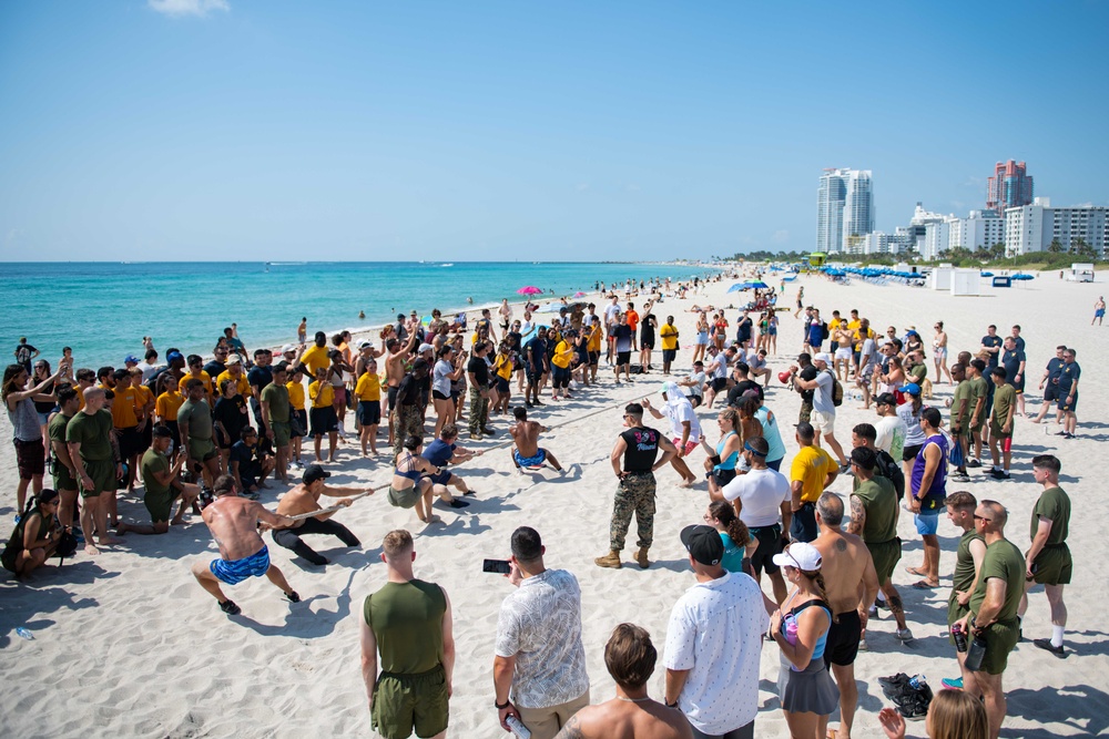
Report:
M366 596L363 617L377 638L384 673L414 675L442 664L447 596L435 583L386 583Z

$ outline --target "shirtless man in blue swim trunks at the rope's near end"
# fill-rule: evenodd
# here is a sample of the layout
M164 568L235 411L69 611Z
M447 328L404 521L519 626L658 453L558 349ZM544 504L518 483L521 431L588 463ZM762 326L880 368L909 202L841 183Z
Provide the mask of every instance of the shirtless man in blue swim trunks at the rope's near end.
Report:
M248 577L265 575L281 588L289 603L299 603L296 594L281 569L269 562L269 550L258 534L258 522L276 526L288 525L293 519L267 511L261 503L240 497L235 479L221 475L214 485L216 499L204 509L202 517L212 532L212 538L220 547L220 558L210 563L193 564L193 576L220 604L220 609L228 616L242 613L235 602L226 597L220 584L237 585Z

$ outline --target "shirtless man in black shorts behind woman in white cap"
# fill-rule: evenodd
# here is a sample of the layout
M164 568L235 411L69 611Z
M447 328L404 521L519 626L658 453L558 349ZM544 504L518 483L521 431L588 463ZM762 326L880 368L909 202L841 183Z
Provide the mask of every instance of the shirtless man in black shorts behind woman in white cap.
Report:
M816 523L821 535L813 546L821 553L824 587L828 606L836 618L828 628L824 661L840 688L840 728L837 739L851 739L855 722L858 688L855 687L855 657L863 638L866 609L878 594L874 561L863 540L841 531L843 501L828 491L816 501Z

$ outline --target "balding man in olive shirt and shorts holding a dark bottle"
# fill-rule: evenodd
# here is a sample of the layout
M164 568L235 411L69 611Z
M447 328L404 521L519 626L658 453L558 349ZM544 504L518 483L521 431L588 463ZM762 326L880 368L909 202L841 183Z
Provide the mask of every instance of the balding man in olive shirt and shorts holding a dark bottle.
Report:
M974 513L978 531L986 541L978 584L970 596L969 612L956 622L967 640L983 638L986 653L977 670L963 666L963 689L981 696L989 720L989 736L997 739L1005 720L1006 701L1001 676L1009 653L1020 639L1017 608L1025 592L1025 558L1020 550L1005 538L1008 513L997 501L983 501Z

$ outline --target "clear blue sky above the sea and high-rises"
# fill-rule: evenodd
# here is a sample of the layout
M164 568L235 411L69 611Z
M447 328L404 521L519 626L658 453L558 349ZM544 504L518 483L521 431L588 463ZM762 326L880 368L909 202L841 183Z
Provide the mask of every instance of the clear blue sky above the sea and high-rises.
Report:
M1109 2L0 3L0 260L811 249L998 161L1109 205Z

